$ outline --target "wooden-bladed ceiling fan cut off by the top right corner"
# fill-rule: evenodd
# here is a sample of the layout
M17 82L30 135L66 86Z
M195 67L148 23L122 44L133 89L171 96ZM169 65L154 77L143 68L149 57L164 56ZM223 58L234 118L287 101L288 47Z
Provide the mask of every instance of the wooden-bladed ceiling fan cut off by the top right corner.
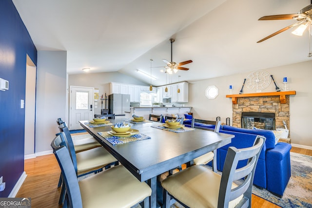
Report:
M293 31L292 33L294 35L299 35L302 36L303 32L305 31L305 29L309 26L309 30L311 27L311 23L312 23L312 0L311 0L311 4L304 7L303 9L301 9L297 14L286 14L286 15L271 15L271 16L264 16L258 20L282 20L282 19L295 19L298 22L295 22L261 40L259 40L257 43L262 42L266 39L272 38L273 36L284 32L294 26L298 26L298 28ZM309 31L311 33L311 31Z

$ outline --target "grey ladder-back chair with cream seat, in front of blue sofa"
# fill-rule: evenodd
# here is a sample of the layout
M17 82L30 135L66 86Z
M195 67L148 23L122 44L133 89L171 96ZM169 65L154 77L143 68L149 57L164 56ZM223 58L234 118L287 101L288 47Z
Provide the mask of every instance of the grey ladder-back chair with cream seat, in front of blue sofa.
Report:
M250 148L229 147L222 175L203 166L191 166L164 179L163 207L169 208L173 197L184 207L250 208L254 171L264 142L265 137L256 136ZM241 160L247 161L246 166L237 169ZM241 178L240 185L233 183Z

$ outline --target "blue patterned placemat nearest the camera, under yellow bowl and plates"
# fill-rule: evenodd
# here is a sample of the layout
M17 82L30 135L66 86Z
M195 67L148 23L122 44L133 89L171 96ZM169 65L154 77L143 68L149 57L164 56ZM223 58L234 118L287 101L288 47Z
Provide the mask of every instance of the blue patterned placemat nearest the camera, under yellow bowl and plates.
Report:
M126 136L126 137L112 136L108 134L107 132L98 132L98 134L102 136L104 139L106 139L112 145L124 144L128 142L135 142L135 141L151 138L142 133L137 133L135 135Z

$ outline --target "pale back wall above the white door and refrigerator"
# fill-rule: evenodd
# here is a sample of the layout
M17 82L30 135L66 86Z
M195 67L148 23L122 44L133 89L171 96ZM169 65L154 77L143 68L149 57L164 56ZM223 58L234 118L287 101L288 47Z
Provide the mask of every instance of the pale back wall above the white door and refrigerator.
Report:
M109 95L109 83L110 82L118 82L124 84L135 84L135 85L143 85L149 86L140 80L137 80L131 76L127 76L121 74L119 72L107 72L107 73L85 73L78 75L69 75L68 76L68 86L80 86L80 87L94 87L99 90L99 98L103 95L105 96L105 92L107 96ZM108 102L107 102L108 105ZM104 108L104 103L103 103ZM98 100L98 108L94 110L95 114L100 114L101 111L101 102Z

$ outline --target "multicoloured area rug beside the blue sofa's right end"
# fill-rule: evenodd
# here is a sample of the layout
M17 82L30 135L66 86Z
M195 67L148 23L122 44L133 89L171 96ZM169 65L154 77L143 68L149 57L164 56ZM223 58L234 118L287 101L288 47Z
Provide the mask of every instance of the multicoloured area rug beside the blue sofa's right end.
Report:
M312 156L291 152L292 176L283 197L253 187L253 193L282 208L312 208Z

